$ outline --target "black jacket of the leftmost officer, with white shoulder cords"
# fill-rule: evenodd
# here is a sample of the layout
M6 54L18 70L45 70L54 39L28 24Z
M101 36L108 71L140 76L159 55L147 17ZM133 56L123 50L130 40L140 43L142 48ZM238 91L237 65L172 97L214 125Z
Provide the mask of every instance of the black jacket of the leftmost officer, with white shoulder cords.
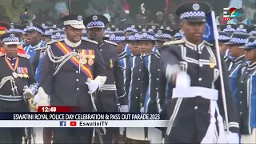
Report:
M24 93L24 87L25 86L30 86L34 83L36 83L35 78L34 78L34 72L32 70L32 66L29 60L30 56L25 55L25 54L18 54L18 68L22 67L22 69L27 70L28 78L14 78L15 85L17 86L17 91L18 95L16 92L13 94L12 86L10 81L6 82L2 88L0 88L0 94L1 95L14 95L14 96L23 96ZM17 58L7 58L6 59L12 64L12 66L15 65L16 59ZM2 81L2 78L5 78L7 76L13 76L13 70L10 69L10 67L7 65L4 54L0 54L0 81ZM18 74L18 72L16 71ZM5 101L5 100L0 100L0 107L2 108L12 108L12 107L18 107L20 105L23 105L24 101L16 101L16 102L11 102L11 101ZM1 109L1 108L0 108Z

